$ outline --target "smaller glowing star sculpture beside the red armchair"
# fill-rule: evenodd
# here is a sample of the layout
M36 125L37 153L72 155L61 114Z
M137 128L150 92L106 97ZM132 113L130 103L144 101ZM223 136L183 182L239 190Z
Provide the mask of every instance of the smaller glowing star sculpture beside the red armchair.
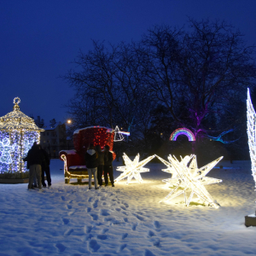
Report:
M141 172L149 172L148 168L144 168L150 160L154 158L154 155L149 156L145 160L139 162L140 154L137 154L136 158L132 161L125 153L123 155L123 159L125 160L125 166L117 167L116 171L123 172L119 177L117 177L114 181L117 183L120 180L127 177L126 184L131 182L132 177L134 177L139 183L143 182L143 178L141 177Z

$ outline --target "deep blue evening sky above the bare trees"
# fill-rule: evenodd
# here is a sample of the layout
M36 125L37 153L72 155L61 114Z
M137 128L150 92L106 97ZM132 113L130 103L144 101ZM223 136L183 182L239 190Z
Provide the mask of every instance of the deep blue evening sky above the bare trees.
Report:
M45 121L67 119L73 89L58 79L91 39L138 40L156 24L183 26L188 16L226 20L256 44L255 0L1 0L0 116L20 110Z

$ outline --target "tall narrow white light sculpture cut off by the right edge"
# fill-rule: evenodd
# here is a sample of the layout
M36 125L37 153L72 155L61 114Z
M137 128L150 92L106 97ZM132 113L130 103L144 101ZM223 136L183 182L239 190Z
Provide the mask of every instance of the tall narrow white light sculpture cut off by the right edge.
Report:
M253 179L256 187L256 113L250 97L250 91L247 90L247 135L248 145L250 149L250 157L252 161Z

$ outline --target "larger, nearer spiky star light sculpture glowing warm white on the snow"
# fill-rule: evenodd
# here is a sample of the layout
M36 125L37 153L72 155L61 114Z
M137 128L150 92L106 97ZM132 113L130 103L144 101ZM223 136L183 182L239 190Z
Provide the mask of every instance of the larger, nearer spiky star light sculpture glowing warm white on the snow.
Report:
M205 185L222 182L221 179L206 177L206 175L214 166L218 164L220 160L223 159L223 156L207 164L207 166L201 167L200 169L197 167L196 156L194 154L185 156L181 159L181 161L178 161L175 156L172 157L170 154L168 156L169 162L163 160L158 155L156 155L156 157L167 166L167 169L164 169L163 171L172 173L172 178L164 179L163 182L174 187L169 195L167 195L162 201L171 201L178 195L183 194L185 205L189 207L189 203L195 194L203 202L207 202L210 206L215 208L219 207L218 202L213 201L213 198L208 193ZM190 190L191 193L189 197L187 197L187 192Z

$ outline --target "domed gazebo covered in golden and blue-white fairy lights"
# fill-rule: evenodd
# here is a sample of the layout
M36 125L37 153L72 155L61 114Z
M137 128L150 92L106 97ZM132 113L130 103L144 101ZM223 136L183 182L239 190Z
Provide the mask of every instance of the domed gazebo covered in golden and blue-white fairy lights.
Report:
M20 98L14 109L0 118L0 173L26 172L26 157L34 142L40 142L40 129L34 120L20 111Z

